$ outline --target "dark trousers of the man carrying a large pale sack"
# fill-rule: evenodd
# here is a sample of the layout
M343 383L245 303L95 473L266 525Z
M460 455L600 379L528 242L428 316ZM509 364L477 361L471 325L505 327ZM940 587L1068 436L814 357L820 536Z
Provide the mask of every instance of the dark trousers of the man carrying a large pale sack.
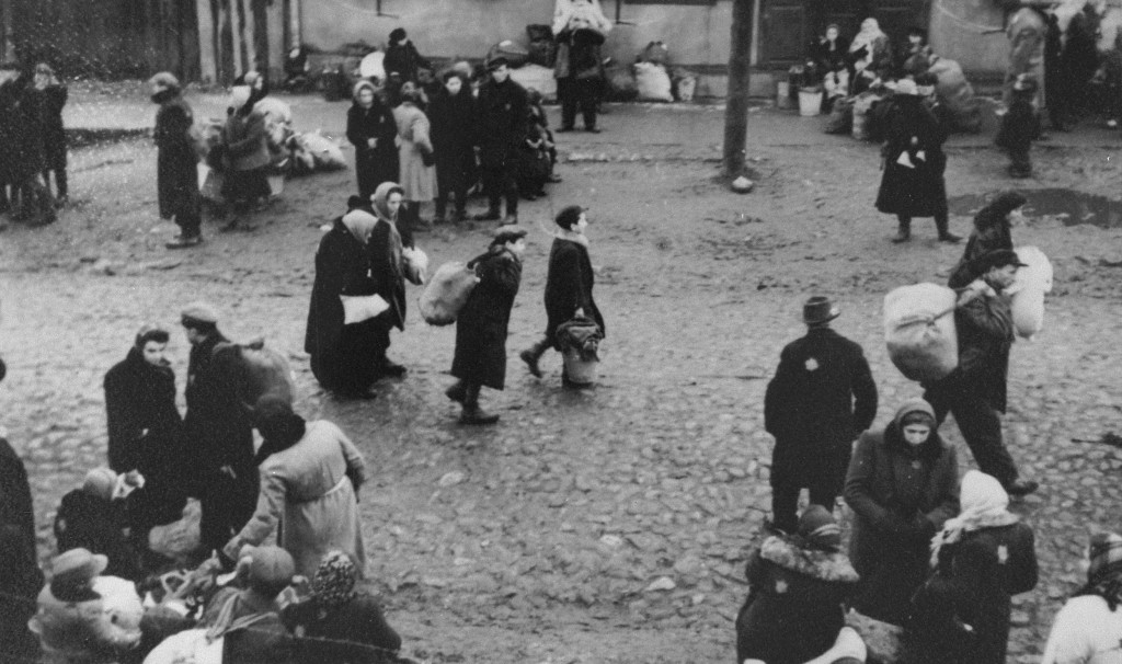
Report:
M947 413L955 416L982 472L997 478L1003 487L1017 480L1017 464L1001 435L1001 416L975 387L963 380L942 380L928 386L923 398L935 408L939 424Z

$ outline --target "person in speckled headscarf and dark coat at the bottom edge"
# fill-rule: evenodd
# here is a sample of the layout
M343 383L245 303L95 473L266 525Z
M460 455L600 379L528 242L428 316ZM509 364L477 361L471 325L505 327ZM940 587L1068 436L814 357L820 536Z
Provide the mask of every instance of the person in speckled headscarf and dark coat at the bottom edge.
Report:
M297 662L396 662L402 637L386 622L378 600L357 588L358 579L350 556L329 551L312 578L311 596L280 612L297 638Z

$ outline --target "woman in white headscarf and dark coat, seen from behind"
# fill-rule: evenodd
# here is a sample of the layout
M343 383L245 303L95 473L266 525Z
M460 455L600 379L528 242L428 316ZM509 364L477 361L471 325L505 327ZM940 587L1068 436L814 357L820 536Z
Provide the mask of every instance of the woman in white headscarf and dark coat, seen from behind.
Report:
M1011 598L1037 585L1032 528L1009 513L1001 482L967 471L962 506L931 540L935 573L905 629L910 664L1004 664Z

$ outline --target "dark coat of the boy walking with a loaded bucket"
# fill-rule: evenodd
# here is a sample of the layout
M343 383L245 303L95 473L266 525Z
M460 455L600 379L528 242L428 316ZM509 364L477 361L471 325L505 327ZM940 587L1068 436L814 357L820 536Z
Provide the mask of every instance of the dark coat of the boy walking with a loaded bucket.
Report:
M596 274L588 256L588 240L582 239L583 236L580 238L569 240L563 236L557 237L550 248L550 265L545 275L545 338L555 350L561 350L557 340L558 328L571 321L579 308L596 321L605 336L608 333L604 316L592 299Z

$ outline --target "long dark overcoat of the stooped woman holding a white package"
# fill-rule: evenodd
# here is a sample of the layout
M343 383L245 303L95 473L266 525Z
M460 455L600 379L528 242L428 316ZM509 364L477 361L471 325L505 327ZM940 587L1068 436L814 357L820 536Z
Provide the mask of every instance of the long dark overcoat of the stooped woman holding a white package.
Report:
M315 252L315 282L307 307L304 351L312 356L312 374L328 389L362 390L377 378L374 363L377 321L343 324L340 295L370 295L370 253L353 233L335 220Z

